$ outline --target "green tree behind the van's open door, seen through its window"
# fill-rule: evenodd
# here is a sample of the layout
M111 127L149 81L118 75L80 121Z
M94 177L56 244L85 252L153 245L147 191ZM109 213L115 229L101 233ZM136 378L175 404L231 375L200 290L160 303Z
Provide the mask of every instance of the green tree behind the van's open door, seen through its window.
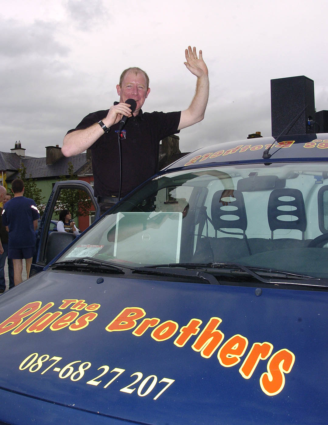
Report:
M68 162L68 178L66 176L60 176L60 180L77 180L77 175L74 174L73 164ZM76 219L79 216L90 215L90 209L92 208L91 199L84 190L70 190L63 189L60 191L60 196L57 199L58 212L63 209L69 210L72 218Z

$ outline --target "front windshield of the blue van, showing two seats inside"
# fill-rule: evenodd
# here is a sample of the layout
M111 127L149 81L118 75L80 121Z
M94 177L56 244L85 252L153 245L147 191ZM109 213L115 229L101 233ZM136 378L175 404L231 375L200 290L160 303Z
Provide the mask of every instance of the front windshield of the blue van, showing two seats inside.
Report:
M145 183L58 261L237 262L328 278L328 164L243 164Z

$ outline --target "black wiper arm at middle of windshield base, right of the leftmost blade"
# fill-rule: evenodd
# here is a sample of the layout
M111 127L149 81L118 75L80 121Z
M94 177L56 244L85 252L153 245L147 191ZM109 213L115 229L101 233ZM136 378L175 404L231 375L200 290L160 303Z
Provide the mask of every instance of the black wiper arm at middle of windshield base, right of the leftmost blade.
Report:
M168 276L171 278L192 278L200 280L200 283L210 283L211 285L220 285L220 282L211 275L210 273L206 273L205 270L203 272L198 272L195 270L181 270L180 273L178 272L171 272L171 270L159 270L157 267L165 268L169 267L170 265L164 264L160 266L149 266L149 267L136 267L135 269L132 269L132 273L137 274L145 274L145 275L155 275L155 276Z

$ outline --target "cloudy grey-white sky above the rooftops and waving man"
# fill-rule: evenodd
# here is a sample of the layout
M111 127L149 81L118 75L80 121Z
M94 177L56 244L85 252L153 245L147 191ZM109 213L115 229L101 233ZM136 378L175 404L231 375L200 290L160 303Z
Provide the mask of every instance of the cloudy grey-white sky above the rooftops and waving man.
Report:
M325 0L10 0L0 9L0 150L20 140L45 156L89 112L118 100L129 66L145 69L143 111L188 108L195 77L188 45L203 50L210 97L203 122L180 132L180 149L271 136L270 80L314 80L328 109Z

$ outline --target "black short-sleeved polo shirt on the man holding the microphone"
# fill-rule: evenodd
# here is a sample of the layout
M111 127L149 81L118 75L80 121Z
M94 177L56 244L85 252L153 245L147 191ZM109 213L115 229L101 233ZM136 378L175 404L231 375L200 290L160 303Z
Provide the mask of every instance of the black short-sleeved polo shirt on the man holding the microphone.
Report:
M107 116L106 111L90 113L74 130L83 130ZM128 118L123 127L122 193L125 196L158 171L160 140L179 133L181 112L152 112ZM111 127L91 146L95 196L118 196L120 186L120 154L117 133L119 123Z

